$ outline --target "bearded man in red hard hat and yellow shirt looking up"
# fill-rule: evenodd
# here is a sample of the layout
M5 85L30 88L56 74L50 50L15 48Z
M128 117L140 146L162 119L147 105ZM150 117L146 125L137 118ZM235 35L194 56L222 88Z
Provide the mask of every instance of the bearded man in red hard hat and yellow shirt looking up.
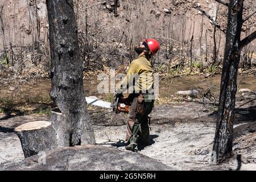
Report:
M154 77L151 57L159 50L159 42L155 39L142 39L134 48L138 57L129 66L126 77L116 90L115 97L123 97L122 92L132 86L129 94L131 107L128 113L126 128L126 150L138 152L138 144L149 144L148 115L154 106ZM130 90L130 88L129 88Z

